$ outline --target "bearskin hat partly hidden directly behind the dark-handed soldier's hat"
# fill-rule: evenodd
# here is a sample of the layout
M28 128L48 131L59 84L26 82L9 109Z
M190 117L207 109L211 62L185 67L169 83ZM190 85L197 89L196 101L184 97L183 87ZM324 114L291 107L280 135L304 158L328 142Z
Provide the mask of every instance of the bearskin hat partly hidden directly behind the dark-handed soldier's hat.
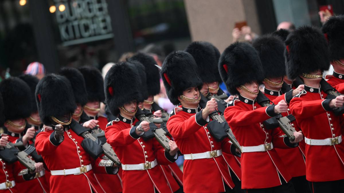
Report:
M76 68L65 67L58 72L71 82L75 103L84 106L87 103L87 91L83 74Z

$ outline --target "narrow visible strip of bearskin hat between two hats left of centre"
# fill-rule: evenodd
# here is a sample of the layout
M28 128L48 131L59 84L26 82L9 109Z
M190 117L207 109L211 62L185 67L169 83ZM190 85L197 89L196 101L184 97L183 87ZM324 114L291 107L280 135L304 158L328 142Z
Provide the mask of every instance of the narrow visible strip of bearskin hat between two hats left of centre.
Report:
M137 60L132 60L131 62L128 62L129 65L133 65L136 69L137 74L140 78L140 93L141 97L137 99L138 102L143 102L148 98L148 88L147 88L147 76L146 76L146 68ZM157 68L157 67L155 67Z

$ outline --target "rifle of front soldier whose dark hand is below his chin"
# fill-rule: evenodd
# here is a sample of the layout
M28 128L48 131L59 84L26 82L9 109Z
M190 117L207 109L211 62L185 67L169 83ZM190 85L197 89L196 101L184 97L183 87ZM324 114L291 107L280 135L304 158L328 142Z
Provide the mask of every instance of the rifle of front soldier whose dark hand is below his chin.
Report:
M91 139L92 141L94 141L95 143L99 144L101 146L101 148L104 151L104 155L106 155L111 161L113 161L116 166L120 166L121 162L119 161L114 149L112 149L111 145L108 143L99 143L99 139L101 137L105 136L104 132L98 133L98 134L94 134L94 133L90 133L85 127L83 127L82 125L80 125L78 122L76 121L72 121L71 123L71 128L73 129L73 131L79 135L86 138Z

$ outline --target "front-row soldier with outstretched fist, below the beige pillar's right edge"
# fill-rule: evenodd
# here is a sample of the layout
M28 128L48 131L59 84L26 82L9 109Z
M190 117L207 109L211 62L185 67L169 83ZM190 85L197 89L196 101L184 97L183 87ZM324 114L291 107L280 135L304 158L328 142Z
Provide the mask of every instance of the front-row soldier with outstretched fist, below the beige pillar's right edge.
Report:
M302 134L295 132L295 140L289 141L280 129L268 130L262 124L287 112L288 105L281 101L262 107L256 102L258 82L264 79L257 51L247 43L233 43L220 57L219 71L228 91L238 94L224 115L241 145L242 188L247 192L294 192L291 176L275 148L296 147Z

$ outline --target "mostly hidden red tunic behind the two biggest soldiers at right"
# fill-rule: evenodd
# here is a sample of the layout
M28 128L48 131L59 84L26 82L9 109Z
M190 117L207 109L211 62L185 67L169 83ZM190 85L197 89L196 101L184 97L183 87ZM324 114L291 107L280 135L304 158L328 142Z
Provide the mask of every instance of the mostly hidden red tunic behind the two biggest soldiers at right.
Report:
M282 93L279 93L279 94L282 94ZM284 94L280 96L276 94L270 95L270 92L269 91L267 92L267 89L265 91L265 96L269 98L270 101L273 101L274 104L278 104L278 102L281 100L286 100L287 102L290 102L290 99L286 99ZM282 113L282 116L288 116L289 113L290 113L290 109L286 113ZM295 130L297 131L300 130L296 121L292 122L291 124L295 128ZM280 132L283 133L282 129L280 129ZM303 148L303 150L301 149L301 147ZM290 148L290 149L276 148L277 154L280 156L284 165L287 167L291 177L298 177L298 176L306 175L306 164L303 157L304 147L305 147L305 143L302 140L299 143L299 147L297 148Z

